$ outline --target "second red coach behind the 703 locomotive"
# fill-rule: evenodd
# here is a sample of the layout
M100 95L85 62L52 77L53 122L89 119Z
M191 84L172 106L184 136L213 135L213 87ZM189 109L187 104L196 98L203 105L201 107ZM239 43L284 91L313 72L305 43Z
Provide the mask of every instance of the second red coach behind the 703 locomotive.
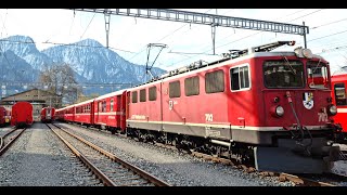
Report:
M94 108L94 101L89 100L85 102L80 102L78 104L75 104L75 116L73 121L80 123L80 125L93 125L93 108ZM72 108L69 108L72 109Z

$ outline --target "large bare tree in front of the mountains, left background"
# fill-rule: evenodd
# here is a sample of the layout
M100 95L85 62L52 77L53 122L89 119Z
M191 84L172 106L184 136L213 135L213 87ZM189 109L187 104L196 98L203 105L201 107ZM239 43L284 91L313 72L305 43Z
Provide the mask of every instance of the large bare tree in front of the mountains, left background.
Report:
M62 98L65 104L75 103L82 93L81 88L75 79L74 70L66 63L46 66L40 74L39 80L47 84L47 91Z

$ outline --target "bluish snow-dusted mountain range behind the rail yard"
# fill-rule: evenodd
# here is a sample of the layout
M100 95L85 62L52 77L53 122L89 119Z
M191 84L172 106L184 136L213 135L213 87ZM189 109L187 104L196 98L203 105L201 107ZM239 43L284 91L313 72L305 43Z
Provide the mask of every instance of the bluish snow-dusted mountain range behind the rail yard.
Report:
M93 39L54 46L42 51L39 51L34 40L27 36L17 35L0 39L0 82L2 83L38 82L39 74L46 66L63 63L70 65L78 83L136 86L150 78L146 77L144 65L133 64L123 58ZM152 67L151 73L159 76L166 70ZM9 95L11 87L5 88ZM15 84L13 89L16 92L21 91L21 88Z

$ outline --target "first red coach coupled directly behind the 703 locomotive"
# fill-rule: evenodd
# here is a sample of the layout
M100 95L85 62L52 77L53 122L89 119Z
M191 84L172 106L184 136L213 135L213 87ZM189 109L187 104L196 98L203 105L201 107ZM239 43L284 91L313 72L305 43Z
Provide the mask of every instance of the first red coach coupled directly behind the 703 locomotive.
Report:
M94 125L112 133L126 130L126 90L94 99Z

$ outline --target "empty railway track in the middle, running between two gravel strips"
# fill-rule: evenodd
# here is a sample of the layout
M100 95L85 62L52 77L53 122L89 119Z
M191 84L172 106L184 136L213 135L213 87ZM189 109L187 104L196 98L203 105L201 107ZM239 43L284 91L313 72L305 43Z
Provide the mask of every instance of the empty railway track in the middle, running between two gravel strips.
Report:
M170 184L59 126L52 123L47 123L47 126L106 186L170 186Z

